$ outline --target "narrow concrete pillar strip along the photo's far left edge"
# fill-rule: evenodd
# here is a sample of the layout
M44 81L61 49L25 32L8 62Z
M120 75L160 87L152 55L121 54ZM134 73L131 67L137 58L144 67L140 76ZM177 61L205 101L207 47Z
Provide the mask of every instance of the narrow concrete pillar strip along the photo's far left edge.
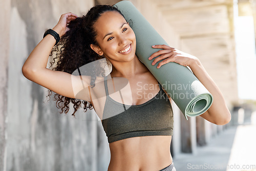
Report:
M6 142L7 142L7 82L8 59L10 48L10 9L11 1L0 1L0 170L6 170Z

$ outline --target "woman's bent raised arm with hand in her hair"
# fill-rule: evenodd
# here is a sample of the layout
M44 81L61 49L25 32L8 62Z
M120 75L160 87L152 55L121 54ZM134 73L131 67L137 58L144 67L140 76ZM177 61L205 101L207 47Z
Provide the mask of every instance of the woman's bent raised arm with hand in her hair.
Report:
M69 30L67 24L76 18L77 16L71 12L62 14L58 24L52 30L57 32L61 37ZM83 90L83 94L81 92L79 93L79 99L91 102L88 87L91 79L89 76L83 76L80 79L79 76L74 76L66 72L47 69L49 54L55 42L56 40L51 34L48 34L39 42L23 65L23 75L27 79L62 96L78 98L75 97L76 92Z

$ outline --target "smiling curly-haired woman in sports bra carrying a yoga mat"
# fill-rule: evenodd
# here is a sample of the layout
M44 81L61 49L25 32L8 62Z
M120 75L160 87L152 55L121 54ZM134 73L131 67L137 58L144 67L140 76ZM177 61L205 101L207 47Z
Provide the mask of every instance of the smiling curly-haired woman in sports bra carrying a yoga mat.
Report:
M85 110L93 106L102 119L103 128L110 142L111 160L108 170L176 170L169 151L173 130L170 96L136 56L135 34L121 12L112 6L98 5L91 8L86 16L62 14L52 30L61 37L60 43L53 49L56 40L52 35L46 35L25 61L22 69L24 76L57 93L56 105L62 112L69 111L70 101L74 103L76 112L81 106L78 99L84 100ZM175 48L166 45L156 45L152 48L162 49L148 59L154 59L152 65L165 59L158 66L167 62L189 66L214 96L211 107L200 115L201 117L218 125L230 121L231 115L219 88L197 57L177 53ZM49 54L52 55L52 52L57 52L54 59L58 60L54 71L46 68ZM96 78L71 75L79 67L103 58L112 63L110 75ZM129 81L130 87L125 86L123 89L130 88L130 95L125 94L126 91L120 93L115 90L115 84L118 84L120 78ZM155 89L149 89L150 84L155 85ZM144 88L142 91L141 86ZM152 96L141 98L141 94L138 93L159 97L162 91L166 93L167 101ZM122 96L118 96L118 92ZM116 115L106 116L108 112L116 112L117 107L122 104L124 112L119 111ZM125 109L125 106L131 106L131 109ZM134 113L136 118L132 117ZM139 118L140 116L142 117Z

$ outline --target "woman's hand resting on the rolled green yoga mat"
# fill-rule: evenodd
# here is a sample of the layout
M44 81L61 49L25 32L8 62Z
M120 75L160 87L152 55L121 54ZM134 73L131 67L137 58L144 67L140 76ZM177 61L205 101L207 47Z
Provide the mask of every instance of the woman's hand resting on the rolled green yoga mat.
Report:
M165 63L168 63L168 62L176 62L182 66L189 67L196 60L199 60L196 56L187 54L187 53L182 52L175 48L171 48L167 45L155 45L155 46L152 46L152 48L162 49L162 50L159 50L159 51L153 53L148 58L149 60L151 60L151 59L159 56L154 59L154 61L152 62L152 65L155 65L158 61L164 59L158 63L157 68L160 68L162 65L164 65Z

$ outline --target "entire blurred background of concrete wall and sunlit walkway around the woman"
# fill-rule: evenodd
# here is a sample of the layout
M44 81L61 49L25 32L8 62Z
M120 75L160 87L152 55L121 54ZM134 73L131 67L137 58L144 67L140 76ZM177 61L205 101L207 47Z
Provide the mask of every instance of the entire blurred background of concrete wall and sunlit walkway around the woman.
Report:
M22 66L61 14L107 0L0 0L0 170L107 170L108 140L94 110L59 114ZM174 102L177 170L256 170L255 0L131 0L169 46L197 56L225 97L226 125L185 120ZM146 155L146 154L145 154Z

